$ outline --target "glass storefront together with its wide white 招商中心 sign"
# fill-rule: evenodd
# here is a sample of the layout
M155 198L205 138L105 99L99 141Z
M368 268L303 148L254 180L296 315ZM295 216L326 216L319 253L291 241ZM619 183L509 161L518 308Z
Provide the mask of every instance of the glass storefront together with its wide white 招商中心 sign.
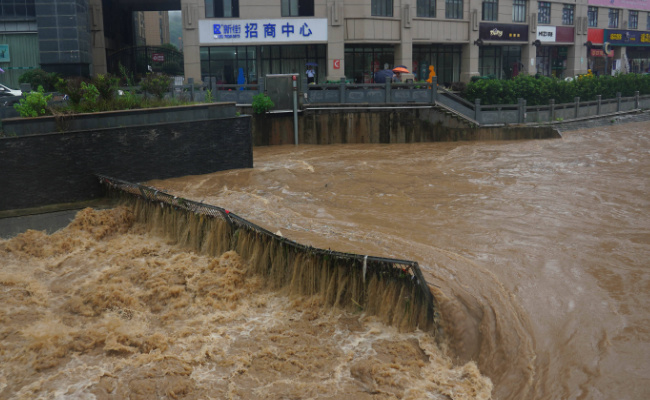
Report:
M201 77L225 84L257 83L268 74L299 73L315 64L327 76L327 19L200 20Z

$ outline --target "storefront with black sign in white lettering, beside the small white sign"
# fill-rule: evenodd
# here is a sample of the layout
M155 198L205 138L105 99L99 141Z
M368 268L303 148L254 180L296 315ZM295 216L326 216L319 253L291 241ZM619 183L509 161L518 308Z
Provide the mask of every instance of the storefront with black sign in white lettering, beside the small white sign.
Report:
M479 24L479 75L509 79L523 69L521 47L528 45L528 25Z

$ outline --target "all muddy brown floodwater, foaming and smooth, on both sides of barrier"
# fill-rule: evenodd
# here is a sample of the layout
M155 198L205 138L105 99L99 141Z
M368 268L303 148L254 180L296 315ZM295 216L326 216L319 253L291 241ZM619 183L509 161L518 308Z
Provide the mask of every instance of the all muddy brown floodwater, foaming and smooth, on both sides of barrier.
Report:
M650 398L650 123L562 139L256 148L148 184L419 262L444 338L265 291L234 252L84 210L0 241L0 398Z

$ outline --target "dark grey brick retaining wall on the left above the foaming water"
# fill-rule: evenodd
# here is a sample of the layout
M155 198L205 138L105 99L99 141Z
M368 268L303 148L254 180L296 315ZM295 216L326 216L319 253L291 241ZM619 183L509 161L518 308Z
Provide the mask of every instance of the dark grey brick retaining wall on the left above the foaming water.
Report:
M96 173L141 182L252 167L250 116L1 138L0 211L100 197Z

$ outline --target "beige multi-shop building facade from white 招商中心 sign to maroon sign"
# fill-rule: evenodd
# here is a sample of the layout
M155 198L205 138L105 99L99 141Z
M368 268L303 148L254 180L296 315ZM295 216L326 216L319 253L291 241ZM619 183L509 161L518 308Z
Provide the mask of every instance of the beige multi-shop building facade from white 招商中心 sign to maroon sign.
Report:
M433 66L438 82L449 85L485 75L567 77L589 68L587 0L181 3L185 71L195 79L237 83L243 70L255 82L313 64L317 82L370 83L377 70L402 65L418 80Z

